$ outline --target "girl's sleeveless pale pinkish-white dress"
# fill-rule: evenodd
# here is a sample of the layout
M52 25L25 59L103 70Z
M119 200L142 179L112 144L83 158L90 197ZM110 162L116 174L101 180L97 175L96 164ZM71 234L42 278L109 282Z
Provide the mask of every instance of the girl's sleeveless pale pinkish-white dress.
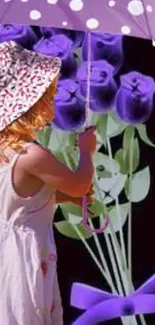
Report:
M44 187L21 198L13 166L0 167L0 324L63 325L52 230L55 193Z

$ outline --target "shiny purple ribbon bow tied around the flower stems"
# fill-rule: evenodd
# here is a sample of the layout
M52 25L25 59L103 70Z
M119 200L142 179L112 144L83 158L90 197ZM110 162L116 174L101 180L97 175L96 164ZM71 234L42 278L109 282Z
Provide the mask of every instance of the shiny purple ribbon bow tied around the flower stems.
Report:
M155 313L155 275L126 297L73 283L71 305L86 310L72 325L94 325L122 316Z

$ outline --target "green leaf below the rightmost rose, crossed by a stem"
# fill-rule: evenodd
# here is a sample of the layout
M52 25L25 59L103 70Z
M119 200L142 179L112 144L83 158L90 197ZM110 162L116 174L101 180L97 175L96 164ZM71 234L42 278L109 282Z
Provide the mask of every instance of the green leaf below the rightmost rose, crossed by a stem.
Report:
M133 140L132 154L133 154L132 172L134 172L138 168L139 161L140 161L140 149L139 149L138 139ZM115 160L119 163L121 174L130 173L130 148L129 147L126 147L125 149L122 148L119 149L115 154Z

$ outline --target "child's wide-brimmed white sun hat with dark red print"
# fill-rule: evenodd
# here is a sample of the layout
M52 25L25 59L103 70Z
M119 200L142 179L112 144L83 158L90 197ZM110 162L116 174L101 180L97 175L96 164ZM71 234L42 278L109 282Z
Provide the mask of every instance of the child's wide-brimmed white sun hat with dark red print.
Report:
M60 68L57 57L28 51L13 41L0 44L0 131L42 97Z

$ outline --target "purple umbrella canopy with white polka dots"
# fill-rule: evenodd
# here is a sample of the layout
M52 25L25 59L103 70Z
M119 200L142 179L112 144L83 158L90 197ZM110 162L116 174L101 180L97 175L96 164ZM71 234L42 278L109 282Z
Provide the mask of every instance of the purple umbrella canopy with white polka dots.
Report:
M2 24L155 38L154 0L1 0ZM20 13L20 14L19 14Z

